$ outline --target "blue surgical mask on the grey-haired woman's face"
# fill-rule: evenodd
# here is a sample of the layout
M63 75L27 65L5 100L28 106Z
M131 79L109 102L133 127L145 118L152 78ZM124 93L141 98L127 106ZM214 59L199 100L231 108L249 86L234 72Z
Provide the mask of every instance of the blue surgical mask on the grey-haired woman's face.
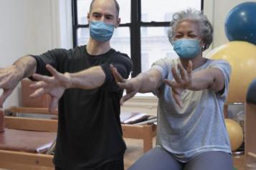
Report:
M174 51L181 59L194 58L200 52L200 41L198 39L178 39L174 41Z

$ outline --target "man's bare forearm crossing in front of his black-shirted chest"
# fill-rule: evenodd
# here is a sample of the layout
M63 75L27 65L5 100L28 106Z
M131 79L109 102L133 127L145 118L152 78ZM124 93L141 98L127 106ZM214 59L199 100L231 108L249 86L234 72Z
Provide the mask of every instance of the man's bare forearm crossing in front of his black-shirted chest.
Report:
M68 88L95 89L105 82L105 73L101 66L93 66L67 76L70 79Z

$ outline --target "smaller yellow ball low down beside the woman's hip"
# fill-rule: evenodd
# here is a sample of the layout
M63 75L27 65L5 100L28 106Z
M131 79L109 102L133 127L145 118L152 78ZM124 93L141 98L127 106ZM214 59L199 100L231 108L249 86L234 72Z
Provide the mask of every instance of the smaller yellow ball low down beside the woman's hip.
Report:
M227 133L229 134L231 149L232 151L236 151L243 141L244 135L242 133L242 127L232 119L225 119L225 124L227 127Z

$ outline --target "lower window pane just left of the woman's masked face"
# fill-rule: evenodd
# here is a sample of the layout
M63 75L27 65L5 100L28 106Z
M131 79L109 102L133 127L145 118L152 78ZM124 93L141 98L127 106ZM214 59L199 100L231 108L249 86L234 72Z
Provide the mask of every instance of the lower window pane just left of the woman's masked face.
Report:
M169 27L141 28L141 71L147 71L154 61L166 57L178 57L169 42Z

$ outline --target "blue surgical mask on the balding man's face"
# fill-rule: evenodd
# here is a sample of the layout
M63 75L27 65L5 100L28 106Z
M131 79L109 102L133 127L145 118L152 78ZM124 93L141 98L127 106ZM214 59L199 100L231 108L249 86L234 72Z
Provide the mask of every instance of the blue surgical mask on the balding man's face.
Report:
M113 36L115 26L100 21L90 21L90 36L97 41L108 41Z

